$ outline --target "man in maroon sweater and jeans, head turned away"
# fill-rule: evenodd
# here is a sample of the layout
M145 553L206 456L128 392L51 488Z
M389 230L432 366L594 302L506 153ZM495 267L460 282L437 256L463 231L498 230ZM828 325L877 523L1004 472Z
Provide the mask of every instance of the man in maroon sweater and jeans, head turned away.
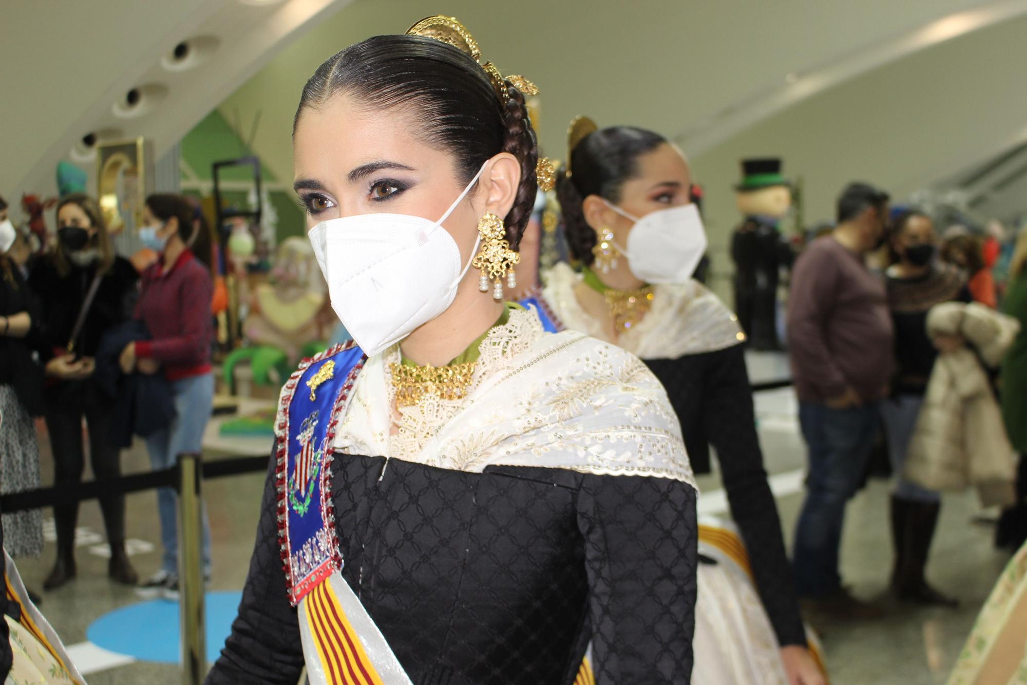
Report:
M789 351L809 452L795 534L796 581L814 608L846 617L873 613L842 587L838 548L895 363L884 285L864 262L884 240L887 204L887 193L870 185L846 187L838 199L838 227L799 257L789 299Z

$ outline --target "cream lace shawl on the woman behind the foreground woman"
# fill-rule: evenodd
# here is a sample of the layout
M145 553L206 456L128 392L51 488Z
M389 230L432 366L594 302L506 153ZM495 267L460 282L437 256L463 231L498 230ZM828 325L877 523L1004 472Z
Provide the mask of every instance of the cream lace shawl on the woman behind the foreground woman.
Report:
M567 328L607 338L602 323L581 309L574 294L579 274L560 262L543 280L542 297ZM608 342L642 359L677 359L725 350L746 339L738 317L697 281L654 288L652 309L642 321Z

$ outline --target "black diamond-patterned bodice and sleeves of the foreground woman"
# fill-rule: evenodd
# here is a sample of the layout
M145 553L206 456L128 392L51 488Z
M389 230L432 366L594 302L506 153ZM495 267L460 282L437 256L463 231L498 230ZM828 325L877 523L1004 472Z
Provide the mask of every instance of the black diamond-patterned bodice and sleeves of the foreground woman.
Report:
M419 685L688 685L695 490L563 469L452 471L332 462L343 577ZM294 685L297 612L277 548L273 471L250 575L207 685ZM516 665L511 665L516 664Z

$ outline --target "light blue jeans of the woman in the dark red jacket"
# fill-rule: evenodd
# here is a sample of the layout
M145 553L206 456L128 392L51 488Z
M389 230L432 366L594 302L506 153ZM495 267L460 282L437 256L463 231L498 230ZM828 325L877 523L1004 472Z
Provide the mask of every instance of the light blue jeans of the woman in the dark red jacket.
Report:
M205 373L172 383L175 394L175 421L169 428L146 438L146 450L154 470L175 466L179 455L199 453L203 429L211 419L214 404L214 375ZM170 488L157 490L157 510L160 513L160 544L163 546L162 568L167 573L179 572L178 494ZM203 507L203 566L211 568L211 521Z

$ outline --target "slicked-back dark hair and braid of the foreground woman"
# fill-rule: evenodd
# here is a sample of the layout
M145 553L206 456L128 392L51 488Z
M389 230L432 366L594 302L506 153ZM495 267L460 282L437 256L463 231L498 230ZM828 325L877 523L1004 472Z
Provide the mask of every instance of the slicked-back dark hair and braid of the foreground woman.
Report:
M340 93L372 110L406 107L427 144L452 154L464 183L485 160L509 152L521 163L521 185L504 223L514 249L535 204L538 147L524 94L509 80L496 95L482 66L466 52L424 36L375 36L327 60L303 86L293 133L307 107Z

